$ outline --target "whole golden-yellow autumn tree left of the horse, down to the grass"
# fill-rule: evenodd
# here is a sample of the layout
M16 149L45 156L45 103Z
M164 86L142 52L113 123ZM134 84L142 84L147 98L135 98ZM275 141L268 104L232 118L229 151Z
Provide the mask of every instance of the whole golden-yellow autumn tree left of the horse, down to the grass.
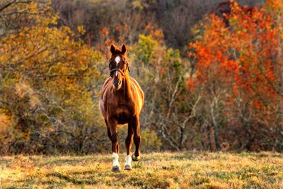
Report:
M96 88L100 54L68 27L57 27L50 2L1 3L0 105L11 118L1 151L86 153L103 149ZM6 4L6 6L5 6ZM77 28L83 33L82 27ZM95 90L93 90L95 88ZM104 138L104 137L103 137Z

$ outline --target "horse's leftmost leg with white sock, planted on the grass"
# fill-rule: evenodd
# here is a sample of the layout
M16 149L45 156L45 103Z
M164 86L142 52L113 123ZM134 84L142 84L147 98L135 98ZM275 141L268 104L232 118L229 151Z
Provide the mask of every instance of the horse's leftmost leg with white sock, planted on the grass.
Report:
M119 144L118 144L118 134L117 134L117 121L113 120L105 120L108 132L108 137L112 142L112 171L117 172L120 171L120 164L119 164Z

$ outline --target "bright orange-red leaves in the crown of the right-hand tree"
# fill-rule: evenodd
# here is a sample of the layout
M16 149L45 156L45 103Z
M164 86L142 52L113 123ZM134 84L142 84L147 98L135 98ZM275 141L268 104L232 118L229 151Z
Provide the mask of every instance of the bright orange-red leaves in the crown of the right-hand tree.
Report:
M282 99L282 10L282 1L270 0L251 10L231 1L229 15L210 15L202 40L190 44L195 53L188 55L198 59L194 82L217 79L233 86L234 95L243 91L245 101L254 99L255 108Z

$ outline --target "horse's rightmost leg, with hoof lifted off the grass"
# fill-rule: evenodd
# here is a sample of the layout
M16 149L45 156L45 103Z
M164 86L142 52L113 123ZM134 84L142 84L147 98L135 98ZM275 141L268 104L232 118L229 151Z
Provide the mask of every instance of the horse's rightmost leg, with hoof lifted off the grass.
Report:
M139 116L132 118L131 125L134 131L134 146L136 146L136 150L134 151L134 154L132 154L132 160L139 161L139 159L141 159L141 156L139 155L139 144L141 143L141 136L139 134Z

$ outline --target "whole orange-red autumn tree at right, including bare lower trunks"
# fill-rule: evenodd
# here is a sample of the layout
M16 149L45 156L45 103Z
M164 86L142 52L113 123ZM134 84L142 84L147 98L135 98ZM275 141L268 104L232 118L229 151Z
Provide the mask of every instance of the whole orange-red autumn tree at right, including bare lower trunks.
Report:
M190 88L203 94L202 127L213 147L282 150L282 1L238 6L211 15L201 40L190 44L197 74Z

